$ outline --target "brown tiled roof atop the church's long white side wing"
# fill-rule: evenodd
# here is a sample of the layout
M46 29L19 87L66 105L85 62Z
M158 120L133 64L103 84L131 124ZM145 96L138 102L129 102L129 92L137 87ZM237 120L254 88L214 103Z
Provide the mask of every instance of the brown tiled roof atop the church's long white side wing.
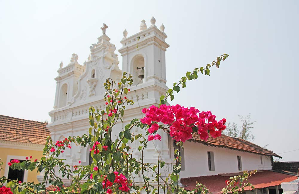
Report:
M273 156L281 158L281 156L277 155L276 153L273 153L271 150L267 150L265 148L262 148L256 144L253 144L253 143L243 140L243 139L233 138L233 137L229 137L229 136L225 136L225 135L222 135L217 138L213 138L209 135L208 140L204 141L204 140L200 139L199 134L193 133L191 140L202 143L202 144L211 145L211 146L226 147L226 148L233 149L233 150L251 152L251 153L256 153L256 154L261 154L261 155L273 155Z

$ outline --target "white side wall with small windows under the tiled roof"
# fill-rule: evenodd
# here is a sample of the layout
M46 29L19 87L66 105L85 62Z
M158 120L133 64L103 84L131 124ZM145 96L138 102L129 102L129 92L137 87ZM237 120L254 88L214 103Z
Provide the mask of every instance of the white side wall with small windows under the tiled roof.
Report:
M215 171L208 169L208 151L214 153ZM186 141L184 143L185 170L181 171L180 178L240 172L242 170L238 170L237 155L241 156L242 170L272 169L271 156ZM261 164L261 156L263 164Z

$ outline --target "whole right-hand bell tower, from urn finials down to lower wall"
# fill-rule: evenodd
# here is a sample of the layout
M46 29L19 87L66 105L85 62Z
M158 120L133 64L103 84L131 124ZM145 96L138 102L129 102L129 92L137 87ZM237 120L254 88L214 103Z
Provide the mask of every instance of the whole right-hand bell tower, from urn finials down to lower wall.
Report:
M140 31L127 37L128 32L123 31L123 45L118 51L123 57L123 71L129 72L133 76L133 85L130 86L129 97L135 101L133 106L126 108L126 118L143 118L141 112L143 108L152 105L158 106L160 96L168 90L166 86L165 73L165 51L169 45L165 42L167 38L164 33L164 25L160 30L155 26L155 18L150 20L151 25L147 27L144 20L141 21ZM144 133L144 130L136 133ZM134 132L135 133L135 132ZM144 155L145 161L155 163L157 158L171 163L170 147L172 141L168 141L168 136L164 132L158 131L164 141L152 141L148 144ZM132 145L136 157L138 154L138 144Z

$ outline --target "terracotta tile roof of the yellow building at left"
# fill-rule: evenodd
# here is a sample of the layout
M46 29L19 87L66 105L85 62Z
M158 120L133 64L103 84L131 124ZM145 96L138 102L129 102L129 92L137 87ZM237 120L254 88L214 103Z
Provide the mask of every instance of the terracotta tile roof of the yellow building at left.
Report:
M45 144L50 132L46 123L0 115L0 140Z

